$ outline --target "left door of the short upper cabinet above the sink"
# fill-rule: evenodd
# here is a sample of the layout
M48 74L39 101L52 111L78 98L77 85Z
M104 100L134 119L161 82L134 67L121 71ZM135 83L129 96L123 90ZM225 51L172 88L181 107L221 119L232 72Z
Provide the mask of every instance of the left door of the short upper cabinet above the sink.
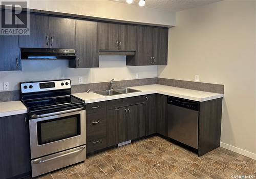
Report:
M99 50L118 50L118 25L98 23Z

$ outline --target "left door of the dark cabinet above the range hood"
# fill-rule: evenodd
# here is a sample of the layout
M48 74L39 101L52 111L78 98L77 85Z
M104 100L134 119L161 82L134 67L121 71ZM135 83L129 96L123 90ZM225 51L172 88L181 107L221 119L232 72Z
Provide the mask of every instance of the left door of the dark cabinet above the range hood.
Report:
M19 47L49 48L49 38L48 16L30 14L30 35L18 36Z

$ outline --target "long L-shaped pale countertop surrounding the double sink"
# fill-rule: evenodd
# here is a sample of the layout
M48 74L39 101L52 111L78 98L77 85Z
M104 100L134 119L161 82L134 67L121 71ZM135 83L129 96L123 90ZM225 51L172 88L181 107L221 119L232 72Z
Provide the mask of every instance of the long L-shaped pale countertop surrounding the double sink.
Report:
M208 101L212 99L222 98L224 95L219 93L209 93L209 92L202 92L193 89L185 89L173 86L165 86L160 84L152 84L152 85L143 85L143 86L133 86L129 87L132 89L138 89L141 92L135 92L130 94L122 94L122 95L114 95L114 96L102 96L96 93L76 93L73 94L74 96L84 100L87 104L100 102L100 101L108 101L113 99L120 99L120 98L127 98L133 96L140 96L140 95L148 95L148 94L162 94L168 96L174 96L194 101Z

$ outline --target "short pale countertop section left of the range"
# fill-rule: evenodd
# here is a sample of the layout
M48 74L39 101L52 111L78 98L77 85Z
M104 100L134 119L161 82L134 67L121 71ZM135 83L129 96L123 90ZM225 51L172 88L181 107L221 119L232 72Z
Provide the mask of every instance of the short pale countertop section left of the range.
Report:
M0 102L0 117L27 113L27 107L20 101Z

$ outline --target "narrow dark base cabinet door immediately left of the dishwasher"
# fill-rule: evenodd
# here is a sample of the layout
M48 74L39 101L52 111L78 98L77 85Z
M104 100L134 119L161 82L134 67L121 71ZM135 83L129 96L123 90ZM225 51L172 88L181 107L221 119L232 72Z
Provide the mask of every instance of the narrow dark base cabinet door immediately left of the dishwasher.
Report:
M157 94L157 132L167 136L167 96Z

